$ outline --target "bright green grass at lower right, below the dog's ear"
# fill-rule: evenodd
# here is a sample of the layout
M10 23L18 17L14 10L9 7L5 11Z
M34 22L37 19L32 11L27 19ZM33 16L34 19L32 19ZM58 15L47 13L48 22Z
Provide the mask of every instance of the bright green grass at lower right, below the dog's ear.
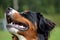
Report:
M55 27L55 29L50 33L49 40L60 40L60 27Z

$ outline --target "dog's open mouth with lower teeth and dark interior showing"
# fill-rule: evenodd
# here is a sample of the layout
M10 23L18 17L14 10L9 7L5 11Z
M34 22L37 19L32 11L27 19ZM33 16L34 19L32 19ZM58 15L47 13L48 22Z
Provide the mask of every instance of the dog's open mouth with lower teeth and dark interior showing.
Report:
M28 26L25 25L24 23L14 22L12 20L9 20L7 25L8 25L7 28L12 28L13 27L13 28L18 29L20 31L25 31L25 30L28 29Z

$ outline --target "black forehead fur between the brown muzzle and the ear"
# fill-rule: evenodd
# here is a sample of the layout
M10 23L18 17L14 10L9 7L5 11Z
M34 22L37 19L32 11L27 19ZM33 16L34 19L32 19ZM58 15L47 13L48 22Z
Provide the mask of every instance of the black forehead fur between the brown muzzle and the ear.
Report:
M21 15L30 20L33 24L37 22L37 13L28 11L28 12L21 12Z

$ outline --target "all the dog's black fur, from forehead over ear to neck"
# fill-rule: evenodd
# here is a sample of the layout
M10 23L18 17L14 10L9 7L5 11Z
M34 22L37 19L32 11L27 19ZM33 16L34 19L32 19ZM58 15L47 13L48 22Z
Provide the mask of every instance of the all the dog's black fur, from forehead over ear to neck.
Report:
M48 40L50 31L55 27L55 23L37 12L21 12L21 15L30 20L34 25L35 22L37 23L39 40Z

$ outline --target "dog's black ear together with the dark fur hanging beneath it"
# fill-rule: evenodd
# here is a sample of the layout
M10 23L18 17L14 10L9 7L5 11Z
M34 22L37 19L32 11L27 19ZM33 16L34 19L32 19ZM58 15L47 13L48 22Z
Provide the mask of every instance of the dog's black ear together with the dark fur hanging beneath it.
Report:
M55 23L52 22L51 20L45 18L41 13L37 13L37 26L38 30L37 32L40 34L43 34L46 40L48 39L48 35L50 31L55 27Z

